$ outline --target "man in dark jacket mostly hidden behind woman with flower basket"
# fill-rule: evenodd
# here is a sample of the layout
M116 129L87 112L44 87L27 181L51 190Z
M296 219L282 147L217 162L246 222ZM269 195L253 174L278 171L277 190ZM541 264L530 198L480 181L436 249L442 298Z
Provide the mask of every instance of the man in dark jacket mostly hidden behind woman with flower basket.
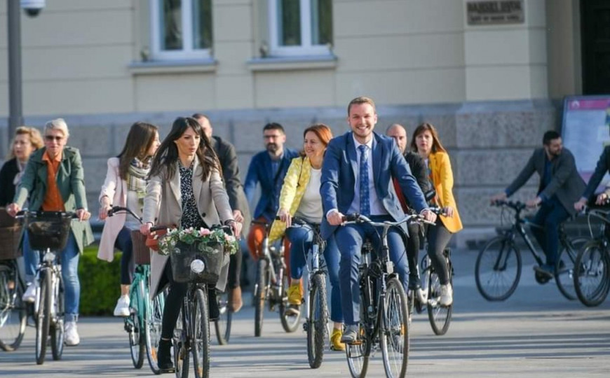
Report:
M226 188L226 194L229 195L229 204L233 209L233 218L243 224L243 234L248 235L250 227L250 209L248 208L248 200L243 192L243 186L239 177L239 165L235 147L224 139L212 136L212 124L208 117L201 113L195 113L193 118L197 120L206 137L210 139L212 148L218 156L220 167L222 167L222 180ZM241 272L241 253L231 255L229 262L229 278L226 286L229 288L229 307L233 312L241 309L243 301L241 300L240 287L240 272Z

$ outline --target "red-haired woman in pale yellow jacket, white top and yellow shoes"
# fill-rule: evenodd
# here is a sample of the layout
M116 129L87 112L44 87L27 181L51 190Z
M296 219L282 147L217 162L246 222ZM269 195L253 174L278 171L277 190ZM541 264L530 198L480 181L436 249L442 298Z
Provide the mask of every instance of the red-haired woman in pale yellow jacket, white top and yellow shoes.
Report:
M284 232L290 240L290 279L288 288L288 311L299 311L303 298L301 276L306 265L305 253L311 248L313 232L310 227L292 225L292 216L298 216L308 223L320 223L323 217L322 197L320 197L320 177L322 176L322 160L332 133L327 125L313 125L303 133L304 144L301 157L294 158L284 179L280 193L280 221L273 222L269 234L270 241L278 240ZM323 251L330 279L331 311L330 319L334 321L334 329L330 337L330 346L334 350L345 350L341 344L341 294L339 292L339 249L334 237L327 239Z

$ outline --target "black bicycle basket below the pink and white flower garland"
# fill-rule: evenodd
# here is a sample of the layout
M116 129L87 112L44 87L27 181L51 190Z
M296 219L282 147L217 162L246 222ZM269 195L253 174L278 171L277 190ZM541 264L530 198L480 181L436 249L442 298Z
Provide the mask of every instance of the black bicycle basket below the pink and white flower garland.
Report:
M203 246L211 247L214 253L201 251ZM224 253L222 244L186 244L178 241L173 251L170 252L172 263L172 275L176 282L203 282L215 284L220 276L223 265L229 261L229 255ZM200 274L191 271L191 262L195 259L205 263L205 269Z

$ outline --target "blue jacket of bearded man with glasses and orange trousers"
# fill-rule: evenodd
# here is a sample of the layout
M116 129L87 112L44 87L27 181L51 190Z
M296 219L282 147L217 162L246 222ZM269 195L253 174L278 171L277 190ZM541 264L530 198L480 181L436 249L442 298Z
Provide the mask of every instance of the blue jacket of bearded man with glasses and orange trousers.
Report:
M269 156L267 151L261 151L252 157L250 167L248 167L248 174L245 176L243 190L246 197L248 197L248 202L251 202L257 188L257 183L261 184L261 197L255 209L254 218L264 216L267 221L273 221L278 212L284 176L286 176L288 167L290 167L290 162L298 155L297 151L285 148L276 176L273 175L271 156Z

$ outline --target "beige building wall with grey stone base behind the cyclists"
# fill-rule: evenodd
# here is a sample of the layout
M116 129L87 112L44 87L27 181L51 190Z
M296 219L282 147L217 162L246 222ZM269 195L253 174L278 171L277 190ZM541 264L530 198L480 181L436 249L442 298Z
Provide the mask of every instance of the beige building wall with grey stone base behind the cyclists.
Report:
M6 2L0 0L0 25ZM378 131L423 120L449 148L466 231L499 221L487 197L557 128L560 102L583 93L578 0L46 0L21 17L23 113L62 116L81 148L90 206L105 160L135 120L161 126L207 113L238 148L243 176L262 126L345 132L346 105L378 106ZM0 27L0 144L8 67ZM531 195L535 181L524 195Z

